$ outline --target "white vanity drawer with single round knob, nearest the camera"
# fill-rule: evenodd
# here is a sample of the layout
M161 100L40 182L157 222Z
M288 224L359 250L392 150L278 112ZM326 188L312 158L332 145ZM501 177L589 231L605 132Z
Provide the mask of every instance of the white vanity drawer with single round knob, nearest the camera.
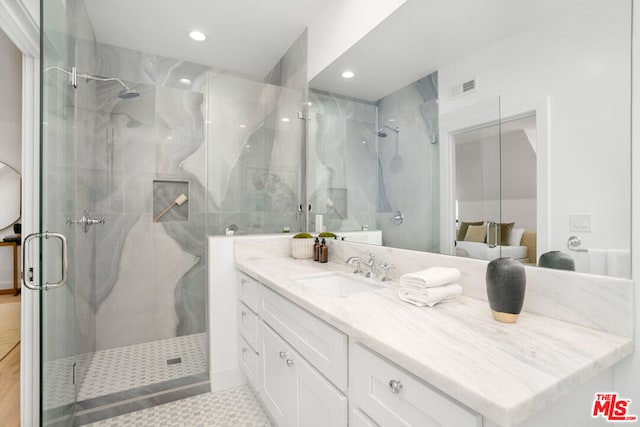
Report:
M482 417L370 350L350 347L353 405L381 427L479 427ZM366 425L366 424L365 424Z

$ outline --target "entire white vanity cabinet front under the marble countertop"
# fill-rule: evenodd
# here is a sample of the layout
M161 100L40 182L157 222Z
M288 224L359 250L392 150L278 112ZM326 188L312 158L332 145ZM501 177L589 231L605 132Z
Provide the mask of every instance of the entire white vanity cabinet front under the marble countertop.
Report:
M479 414L244 274L238 316L240 364L279 427L482 426Z

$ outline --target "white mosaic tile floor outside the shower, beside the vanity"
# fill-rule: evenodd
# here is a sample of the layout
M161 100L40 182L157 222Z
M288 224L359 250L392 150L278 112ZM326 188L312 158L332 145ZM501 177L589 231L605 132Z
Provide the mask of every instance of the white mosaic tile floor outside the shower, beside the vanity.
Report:
M115 418L92 427L271 427L271 422L249 386L205 393Z

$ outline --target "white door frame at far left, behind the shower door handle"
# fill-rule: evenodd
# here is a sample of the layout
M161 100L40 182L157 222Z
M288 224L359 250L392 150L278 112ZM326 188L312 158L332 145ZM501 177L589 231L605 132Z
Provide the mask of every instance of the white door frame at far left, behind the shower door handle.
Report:
M0 29L22 52L24 236L40 229L40 16L33 16L40 14L39 9L39 2L33 0L0 0ZM39 272L34 274L39 277ZM32 426L40 423L40 301L37 292L23 292L21 299L20 425Z

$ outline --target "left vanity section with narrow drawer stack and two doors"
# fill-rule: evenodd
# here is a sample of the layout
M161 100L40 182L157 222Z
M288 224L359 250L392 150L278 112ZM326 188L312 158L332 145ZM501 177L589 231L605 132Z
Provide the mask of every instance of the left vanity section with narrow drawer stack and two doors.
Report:
M240 366L277 425L346 427L347 336L244 274L239 294Z

